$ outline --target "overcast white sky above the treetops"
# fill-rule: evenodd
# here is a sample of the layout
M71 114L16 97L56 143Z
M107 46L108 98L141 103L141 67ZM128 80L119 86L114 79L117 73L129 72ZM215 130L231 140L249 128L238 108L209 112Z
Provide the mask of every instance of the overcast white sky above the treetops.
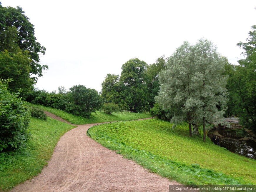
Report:
M139 58L147 64L169 57L183 41L211 40L230 63L237 64L252 25L255 0L0 0L21 6L34 24L40 57L49 70L36 86L49 92L82 84L101 91L108 73Z

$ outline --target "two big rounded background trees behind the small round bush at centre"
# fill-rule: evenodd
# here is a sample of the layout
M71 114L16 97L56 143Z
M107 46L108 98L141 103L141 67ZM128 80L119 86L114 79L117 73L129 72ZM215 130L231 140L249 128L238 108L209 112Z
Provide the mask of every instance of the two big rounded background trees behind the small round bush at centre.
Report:
M102 98L118 104L120 110L143 112L148 110L147 64L137 58L122 65L119 75L107 74L102 82Z

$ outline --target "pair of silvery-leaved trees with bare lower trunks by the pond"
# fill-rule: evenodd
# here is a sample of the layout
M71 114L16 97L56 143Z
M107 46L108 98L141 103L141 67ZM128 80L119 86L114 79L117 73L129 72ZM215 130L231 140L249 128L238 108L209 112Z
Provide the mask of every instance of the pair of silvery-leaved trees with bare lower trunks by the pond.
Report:
M170 56L166 70L159 73L160 90L156 102L172 113L174 126L182 121L189 123L189 136L198 135L203 126L203 141L210 124L225 123L227 79L222 76L225 58L217 53L216 46L207 39L195 45L185 41Z

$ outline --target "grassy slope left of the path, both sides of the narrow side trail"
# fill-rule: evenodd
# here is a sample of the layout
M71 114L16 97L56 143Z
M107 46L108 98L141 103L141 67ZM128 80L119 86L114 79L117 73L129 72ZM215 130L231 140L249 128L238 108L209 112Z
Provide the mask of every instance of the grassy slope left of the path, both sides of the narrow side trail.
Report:
M114 113L108 115L103 112L97 112L96 115L92 114L90 119L86 119L57 109L40 107L74 124L124 121L150 117L149 114L140 113ZM47 121L31 118L29 126L31 138L26 148L12 153L0 153L0 191L6 191L40 173L51 158L59 138L72 128L74 126L52 118L47 118Z

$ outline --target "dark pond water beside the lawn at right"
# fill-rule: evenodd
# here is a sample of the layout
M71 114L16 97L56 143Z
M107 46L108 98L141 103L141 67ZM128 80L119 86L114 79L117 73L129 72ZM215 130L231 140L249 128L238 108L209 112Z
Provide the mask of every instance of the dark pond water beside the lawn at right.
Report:
M221 138L219 145L232 151L233 153L238 153L242 156L246 156L248 158L256 159L256 142L254 141L239 141L239 138L242 138L240 134L237 134L236 130L225 130L225 129L213 129L208 133L208 137L212 139L213 142L213 134L216 133L224 136L225 138Z

